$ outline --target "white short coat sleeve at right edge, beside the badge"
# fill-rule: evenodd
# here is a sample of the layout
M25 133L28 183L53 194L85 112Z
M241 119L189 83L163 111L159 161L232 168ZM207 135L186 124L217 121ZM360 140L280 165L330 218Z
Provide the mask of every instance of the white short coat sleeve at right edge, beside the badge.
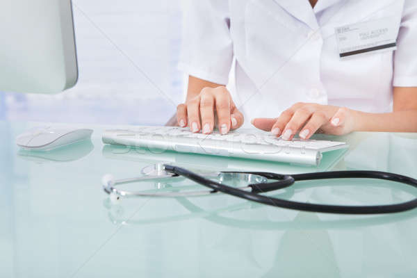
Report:
M405 0L397 50L394 56L393 85L417 87L417 1Z

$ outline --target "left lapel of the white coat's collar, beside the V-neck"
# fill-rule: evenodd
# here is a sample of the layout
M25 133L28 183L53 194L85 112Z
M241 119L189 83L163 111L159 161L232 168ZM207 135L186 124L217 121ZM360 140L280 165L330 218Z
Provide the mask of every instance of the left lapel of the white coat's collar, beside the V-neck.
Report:
M301 22L304 22L311 29L316 30L318 28L318 22L313 8L308 0L274 0L281 8L287 11L287 13L293 15ZM319 0L320 2L322 0ZM326 0L325 0L326 1Z

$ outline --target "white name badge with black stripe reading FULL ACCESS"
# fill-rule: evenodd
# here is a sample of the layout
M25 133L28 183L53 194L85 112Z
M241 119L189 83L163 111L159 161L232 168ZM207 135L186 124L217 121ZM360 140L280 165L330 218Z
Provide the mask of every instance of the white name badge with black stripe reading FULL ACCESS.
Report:
M386 17L337 27L339 56L344 58L370 51L395 50L399 24L395 17Z

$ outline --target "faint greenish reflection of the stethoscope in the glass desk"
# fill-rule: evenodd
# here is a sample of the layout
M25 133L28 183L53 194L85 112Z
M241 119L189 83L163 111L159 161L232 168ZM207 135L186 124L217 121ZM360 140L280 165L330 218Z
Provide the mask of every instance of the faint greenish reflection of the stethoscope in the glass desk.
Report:
M156 183L156 186L161 186L161 184ZM309 183L308 188L320 188L322 185ZM337 185L336 185L337 186ZM390 189L389 184L380 183L377 185L380 188ZM163 185L163 188L171 188L173 186L170 184ZM302 190L305 190L304 186ZM181 190L177 188L175 190ZM270 195L271 197L279 197L282 199L290 199L297 193L299 188L283 188L277 191L277 194ZM405 192L414 195L412 191L413 188L402 188ZM215 195L213 195L214 197ZM207 196L210 198L211 196ZM262 208L271 209L273 213L281 213L277 208L270 208L263 204L258 204L249 201L239 202L238 204L233 204L229 206L224 206L221 208L215 208L212 210L207 210L198 206L196 203L199 202L199 197L188 198L188 197L174 197L172 199L176 200L183 208L189 212L187 214L181 215L170 215L160 218L147 218L140 220L133 220L126 218L124 215L124 206L122 203L115 204L111 202L110 197L104 199L104 207L108 210L108 219L115 225L147 225L147 224L158 224L158 223L167 223L167 222L179 222L184 220L193 220L197 218L203 218L215 224L221 224L226 227L236 227L240 229L253 229L253 230L300 230L300 229L354 229L359 227L372 227L377 225L391 224L396 222L402 222L405 220L410 220L416 218L417 209L406 211L403 213L393 213L386 215L335 215L336 219L332 220L320 220L315 218L313 220L305 220L305 218L294 218L293 220L252 220L252 219L241 219L233 218L229 216L224 216L224 214L234 213L238 211L251 210L256 211ZM214 197L215 198L215 197ZM304 213L304 212L300 212ZM309 219L309 218L308 218Z

